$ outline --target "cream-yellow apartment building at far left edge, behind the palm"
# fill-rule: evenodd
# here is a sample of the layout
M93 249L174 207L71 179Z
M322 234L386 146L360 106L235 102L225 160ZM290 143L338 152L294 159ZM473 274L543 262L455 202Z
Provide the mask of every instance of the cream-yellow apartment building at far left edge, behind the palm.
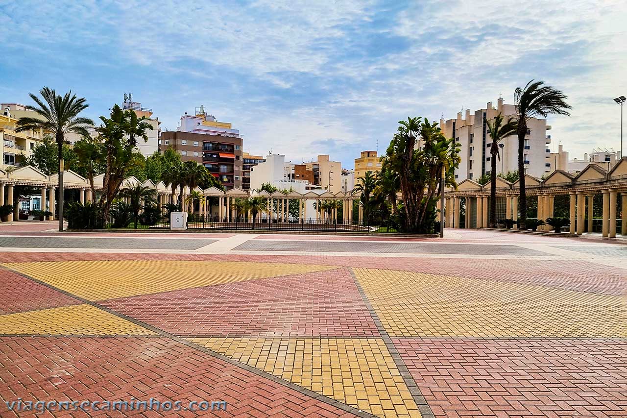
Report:
M17 103L0 104L0 146L2 147L2 169L21 167L23 158L28 158L38 142L43 139L41 129L31 129L26 132L16 132L16 124L22 116L31 116L32 110Z

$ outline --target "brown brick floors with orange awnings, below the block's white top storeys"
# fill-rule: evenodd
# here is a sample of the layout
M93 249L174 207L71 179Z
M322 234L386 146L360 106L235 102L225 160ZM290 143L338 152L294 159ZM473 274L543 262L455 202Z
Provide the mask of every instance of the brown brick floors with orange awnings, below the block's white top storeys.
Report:
M182 161L203 164L227 188L242 186L242 139L220 134L169 131L161 133L161 149L171 147Z

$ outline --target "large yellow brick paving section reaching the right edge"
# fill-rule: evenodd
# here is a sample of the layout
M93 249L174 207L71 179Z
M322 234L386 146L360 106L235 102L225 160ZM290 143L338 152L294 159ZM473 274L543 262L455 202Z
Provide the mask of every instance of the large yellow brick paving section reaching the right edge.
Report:
M416 272L353 269L390 336L627 337L627 298Z

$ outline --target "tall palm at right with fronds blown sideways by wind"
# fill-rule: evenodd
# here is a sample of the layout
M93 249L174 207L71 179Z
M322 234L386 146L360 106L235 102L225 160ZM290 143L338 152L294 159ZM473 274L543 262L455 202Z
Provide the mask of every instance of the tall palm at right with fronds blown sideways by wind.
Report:
M566 103L567 96L543 81L531 80L525 88L517 87L514 91L514 102L518 121L518 173L520 190L520 221L521 229L527 222L527 193L525 191L525 135L527 135L527 122L532 117L547 115L567 115L571 105Z

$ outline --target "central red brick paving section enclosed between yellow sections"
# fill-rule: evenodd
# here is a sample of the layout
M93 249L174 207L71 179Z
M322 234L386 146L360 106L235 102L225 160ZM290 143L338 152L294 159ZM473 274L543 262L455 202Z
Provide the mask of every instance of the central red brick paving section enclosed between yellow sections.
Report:
M347 269L99 303L184 336L379 336Z

